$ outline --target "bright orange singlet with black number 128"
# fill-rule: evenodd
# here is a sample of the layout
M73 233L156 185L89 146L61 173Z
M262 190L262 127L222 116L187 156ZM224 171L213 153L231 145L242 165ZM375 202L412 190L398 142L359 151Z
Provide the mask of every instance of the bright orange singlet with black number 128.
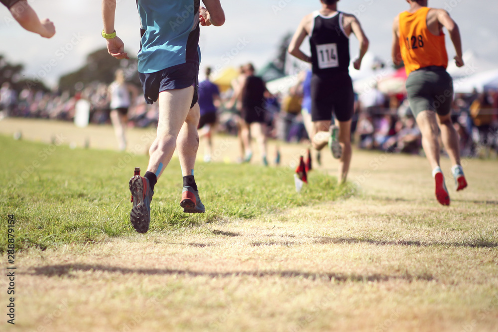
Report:
M430 9L422 7L414 13L403 11L399 14L399 46L407 76L428 66L448 66L443 31L435 36L427 28Z

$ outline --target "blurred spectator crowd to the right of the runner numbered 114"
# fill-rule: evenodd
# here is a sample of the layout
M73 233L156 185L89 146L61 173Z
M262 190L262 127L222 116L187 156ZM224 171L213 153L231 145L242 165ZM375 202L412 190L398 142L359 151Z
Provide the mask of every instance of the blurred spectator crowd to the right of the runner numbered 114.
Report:
M404 94L382 94L373 88L358 100L354 124L358 146L390 152L419 154L421 133ZM456 94L452 121L460 136L463 157L498 152L498 91ZM442 145L440 145L442 146Z

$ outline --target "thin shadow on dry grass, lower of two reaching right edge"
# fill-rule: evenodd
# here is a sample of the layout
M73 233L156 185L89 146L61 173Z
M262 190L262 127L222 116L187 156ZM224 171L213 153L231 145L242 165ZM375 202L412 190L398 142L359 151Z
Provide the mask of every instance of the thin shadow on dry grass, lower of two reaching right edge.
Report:
M318 237L315 240L315 243L371 243L375 245L411 245L416 247L427 247L434 245L442 245L442 246L455 246L455 247L486 247L486 248L495 248L498 247L498 243L486 241L486 240L477 240L470 243L465 242L421 242L421 241L379 241L372 239L359 239L352 237Z

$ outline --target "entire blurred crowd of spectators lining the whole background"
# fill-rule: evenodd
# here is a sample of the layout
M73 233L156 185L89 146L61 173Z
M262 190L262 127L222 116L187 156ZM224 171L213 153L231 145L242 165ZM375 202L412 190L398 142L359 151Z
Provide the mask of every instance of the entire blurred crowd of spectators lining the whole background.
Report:
M75 87L76 92L13 90L9 83L0 88L0 118L26 117L72 121L78 100L90 103L89 122L111 124L110 90L104 83ZM141 91L140 87L136 87ZM301 112L302 82L285 93L275 93L263 104L266 111L267 136L286 142L309 140ZM127 127L156 126L157 103L148 105L138 93L131 96ZM220 89L218 132L237 134L240 112L234 103L234 89ZM472 94L456 94L452 119L460 135L462 156L487 155L498 152L498 90ZM384 94L376 87L356 95L352 139L359 148L419 154L421 133L404 94ZM484 150L483 150L484 148Z

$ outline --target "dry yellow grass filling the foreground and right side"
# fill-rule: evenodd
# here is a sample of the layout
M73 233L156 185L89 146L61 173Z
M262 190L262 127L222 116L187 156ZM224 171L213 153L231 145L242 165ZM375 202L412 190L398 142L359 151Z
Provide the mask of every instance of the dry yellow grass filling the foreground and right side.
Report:
M281 149L286 165L303 146ZM498 331L497 163L465 171L442 207L424 158L354 151L351 199L21 252L1 330Z

